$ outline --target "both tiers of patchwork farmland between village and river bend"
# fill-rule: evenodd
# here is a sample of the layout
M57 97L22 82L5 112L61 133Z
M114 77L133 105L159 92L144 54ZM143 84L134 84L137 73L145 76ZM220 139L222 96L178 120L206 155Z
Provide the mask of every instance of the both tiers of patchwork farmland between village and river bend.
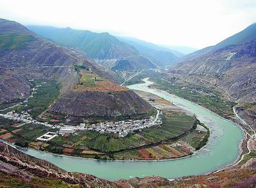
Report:
M179 142L175 147L173 143L180 135L193 130L198 120L182 112L173 111L164 112L163 119L163 126L128 134L125 138L119 138L118 134L99 134L92 131L58 136L51 140L45 150L97 159L150 159L147 155L142 155L141 150L151 151L152 156L155 156L152 159L168 159L191 154L187 143Z

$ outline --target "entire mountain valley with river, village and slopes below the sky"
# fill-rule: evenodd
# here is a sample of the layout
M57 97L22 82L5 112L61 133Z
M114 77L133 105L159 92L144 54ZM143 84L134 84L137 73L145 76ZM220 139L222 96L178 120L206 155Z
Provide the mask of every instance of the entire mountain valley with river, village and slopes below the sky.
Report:
M184 55L0 18L0 187L253 184L255 31Z

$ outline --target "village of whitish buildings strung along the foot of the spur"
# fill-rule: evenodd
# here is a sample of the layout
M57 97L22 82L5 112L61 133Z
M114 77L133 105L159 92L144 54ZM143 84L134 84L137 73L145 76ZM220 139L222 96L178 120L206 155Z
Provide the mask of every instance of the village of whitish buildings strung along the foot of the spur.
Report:
M5 114L0 114L6 119L16 120L23 122L20 126L24 124L40 124L42 126L51 127L52 129L58 129L56 133L48 132L44 135L38 137L36 140L38 141L49 141L58 134L76 134L77 131L95 131L100 134L112 133L118 134L119 138L124 138L129 133L140 132L143 129L150 128L153 126L161 126L163 124L161 117L159 115L162 114L160 110L157 110L156 117L150 116L148 119L141 120L120 120L118 122L99 122L97 124L85 124L81 123L77 126L68 126L65 124L49 124L48 122L39 122L28 112L17 113L15 111L7 112Z

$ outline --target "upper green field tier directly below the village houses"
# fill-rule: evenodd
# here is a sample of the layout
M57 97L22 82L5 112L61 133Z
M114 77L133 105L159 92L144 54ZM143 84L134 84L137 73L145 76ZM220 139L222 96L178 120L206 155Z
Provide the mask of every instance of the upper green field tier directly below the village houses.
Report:
M77 152L88 148L99 152L112 153L168 140L179 136L197 124L195 117L176 112L169 112L168 116L163 117L163 122L164 124L161 127L145 129L136 134L129 134L125 138L118 138L117 134L99 134L92 131L83 131L68 137L58 136L51 141L51 145L64 148L63 144L74 144L72 148ZM51 148L52 146L49 146L47 149L51 151Z

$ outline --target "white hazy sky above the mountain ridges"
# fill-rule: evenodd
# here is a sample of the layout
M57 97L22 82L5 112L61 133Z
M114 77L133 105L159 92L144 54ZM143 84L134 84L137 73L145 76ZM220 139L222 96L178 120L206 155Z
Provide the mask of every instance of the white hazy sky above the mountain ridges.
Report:
M256 22L256 1L0 0L0 17L203 48Z

